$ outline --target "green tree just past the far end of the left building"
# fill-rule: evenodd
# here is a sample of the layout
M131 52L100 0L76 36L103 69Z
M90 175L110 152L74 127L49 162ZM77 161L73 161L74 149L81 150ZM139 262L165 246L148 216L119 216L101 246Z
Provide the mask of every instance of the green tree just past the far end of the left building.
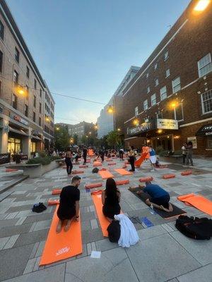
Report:
M55 148L59 151L65 151L70 146L69 130L67 126L61 126L57 130L57 126L54 128Z

